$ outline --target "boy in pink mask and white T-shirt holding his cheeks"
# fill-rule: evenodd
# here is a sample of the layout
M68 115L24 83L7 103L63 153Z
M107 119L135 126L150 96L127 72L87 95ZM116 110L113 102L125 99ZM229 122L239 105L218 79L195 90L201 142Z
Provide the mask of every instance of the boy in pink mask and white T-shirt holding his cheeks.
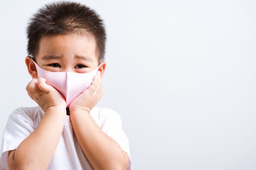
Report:
M102 96L106 69L101 18L79 3L51 3L32 17L27 37L30 56L25 63L33 80L26 90L39 106L21 107L10 115L0 166L6 170L129 170L128 138L120 117L110 109L94 107ZM86 80L85 90L70 98L69 91L83 84L79 75L94 77ZM76 82L62 86L55 79Z

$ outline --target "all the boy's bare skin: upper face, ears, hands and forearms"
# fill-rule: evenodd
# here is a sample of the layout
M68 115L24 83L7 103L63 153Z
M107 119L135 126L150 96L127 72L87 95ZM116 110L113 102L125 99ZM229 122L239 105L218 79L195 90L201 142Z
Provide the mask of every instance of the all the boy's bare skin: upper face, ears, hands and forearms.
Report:
M48 71L85 73L99 65L96 49L93 36L88 34L43 36L35 59ZM16 150L9 152L8 166L10 170L45 170L63 131L66 102L55 88L45 83L45 79L38 79L30 57L26 57L25 63L33 78L26 90L45 114L35 131ZM123 170L128 165L128 154L100 129L89 114L103 94L101 78L105 68L106 62L103 62L92 84L71 102L70 119L79 144L95 170Z

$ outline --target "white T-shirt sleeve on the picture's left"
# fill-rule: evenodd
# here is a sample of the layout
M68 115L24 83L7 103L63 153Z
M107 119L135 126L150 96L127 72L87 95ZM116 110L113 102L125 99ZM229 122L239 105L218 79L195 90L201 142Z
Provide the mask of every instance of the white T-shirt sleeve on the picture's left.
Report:
M3 131L0 168L9 170L7 164L8 151L16 150L21 142L34 131L34 126L34 121L23 108L13 111Z

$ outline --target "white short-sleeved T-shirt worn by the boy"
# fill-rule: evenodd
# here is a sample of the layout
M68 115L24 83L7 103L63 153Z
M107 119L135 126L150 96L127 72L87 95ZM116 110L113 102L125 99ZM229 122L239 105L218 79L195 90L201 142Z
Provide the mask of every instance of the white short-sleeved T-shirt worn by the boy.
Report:
M20 107L9 116L3 131L0 170L1 167L9 170L8 151L17 149L20 143L35 130L43 114L43 110L37 106ZM102 131L114 139L129 156L128 138L122 129L120 116L111 109L98 107L94 107L90 115ZM130 169L131 161L127 170ZM62 136L47 170L93 170L78 143L69 116L66 116Z

